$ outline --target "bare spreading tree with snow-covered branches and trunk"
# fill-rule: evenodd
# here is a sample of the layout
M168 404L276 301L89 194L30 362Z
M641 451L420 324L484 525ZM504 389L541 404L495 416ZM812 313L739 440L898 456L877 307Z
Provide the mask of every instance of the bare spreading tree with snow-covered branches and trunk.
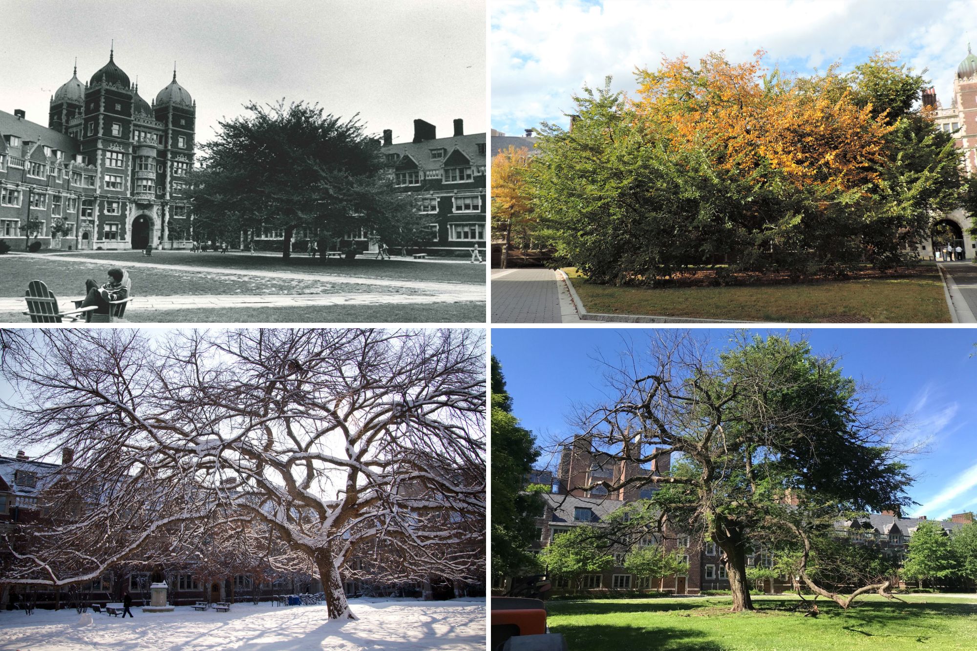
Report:
M5 583L88 581L245 524L250 553L313 569L330 619L354 619L341 568L357 554L387 578L484 571L479 330L16 330L3 344L2 437L74 451L39 479L46 517L8 537Z

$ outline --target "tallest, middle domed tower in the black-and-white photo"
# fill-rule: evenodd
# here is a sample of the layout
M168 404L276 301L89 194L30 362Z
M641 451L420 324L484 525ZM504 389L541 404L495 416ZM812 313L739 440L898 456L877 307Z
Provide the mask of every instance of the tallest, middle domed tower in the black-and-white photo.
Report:
M129 75L115 64L113 47L85 89L79 136L82 154L96 168L95 239L106 248L122 248L129 240L135 95Z

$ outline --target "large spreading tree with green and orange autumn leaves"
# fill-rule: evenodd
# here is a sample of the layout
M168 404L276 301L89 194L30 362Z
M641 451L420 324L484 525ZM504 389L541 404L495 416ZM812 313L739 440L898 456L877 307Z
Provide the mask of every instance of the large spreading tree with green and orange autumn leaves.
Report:
M712 53L639 69L632 99L584 87L572 127L540 129L532 207L558 255L596 282L690 267L842 274L913 259L962 176L949 134L913 109L894 55L789 77Z

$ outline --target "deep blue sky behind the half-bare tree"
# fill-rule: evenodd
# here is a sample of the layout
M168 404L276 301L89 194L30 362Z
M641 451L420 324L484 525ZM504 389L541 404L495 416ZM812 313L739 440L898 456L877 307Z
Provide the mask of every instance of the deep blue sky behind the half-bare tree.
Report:
M761 332L784 330L762 329ZM716 346L730 329L698 329ZM910 459L917 477L908 512L944 518L977 510L977 330L963 328L812 328L793 330L818 354L839 357L847 375L875 387L887 409L909 416L907 436L928 440ZM540 443L572 435L572 405L601 398L598 353L615 355L622 337L640 344L643 328L493 328L492 354L502 364L514 412ZM540 459L544 462L548 459Z

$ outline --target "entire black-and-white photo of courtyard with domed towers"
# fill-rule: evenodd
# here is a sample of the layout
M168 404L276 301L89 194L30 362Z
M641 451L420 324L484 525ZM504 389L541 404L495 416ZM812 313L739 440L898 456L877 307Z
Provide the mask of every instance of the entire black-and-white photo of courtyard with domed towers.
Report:
M0 321L486 321L486 6L0 2Z

